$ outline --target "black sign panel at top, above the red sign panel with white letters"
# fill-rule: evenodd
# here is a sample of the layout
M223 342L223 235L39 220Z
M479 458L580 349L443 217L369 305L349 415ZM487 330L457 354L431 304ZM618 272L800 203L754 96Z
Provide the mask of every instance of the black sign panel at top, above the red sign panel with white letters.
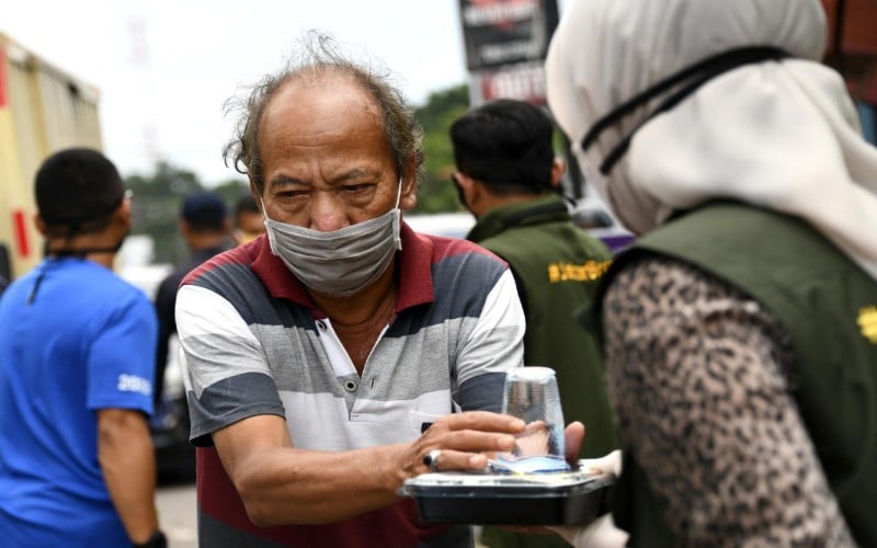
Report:
M469 71L544 60L557 0L459 0Z

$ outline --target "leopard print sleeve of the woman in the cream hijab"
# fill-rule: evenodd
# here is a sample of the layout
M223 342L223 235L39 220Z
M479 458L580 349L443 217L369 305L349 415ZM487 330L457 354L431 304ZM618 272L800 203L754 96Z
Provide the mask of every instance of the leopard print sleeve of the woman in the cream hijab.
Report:
M622 435L684 546L854 546L789 395L784 328L759 302L664 258L604 300Z

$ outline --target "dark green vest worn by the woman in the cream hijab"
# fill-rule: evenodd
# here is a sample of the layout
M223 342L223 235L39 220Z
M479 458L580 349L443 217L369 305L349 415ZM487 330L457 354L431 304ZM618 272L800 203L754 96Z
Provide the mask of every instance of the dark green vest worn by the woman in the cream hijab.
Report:
M596 302L643 251L734 285L785 327L797 366L793 397L831 490L858 545L877 546L877 282L799 219L716 203L640 238L616 259ZM624 466L616 522L633 546L676 545L629 453Z

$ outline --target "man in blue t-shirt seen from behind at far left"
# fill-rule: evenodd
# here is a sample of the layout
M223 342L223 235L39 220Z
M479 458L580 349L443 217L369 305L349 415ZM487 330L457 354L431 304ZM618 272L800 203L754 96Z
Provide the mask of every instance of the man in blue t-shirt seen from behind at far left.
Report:
M0 538L163 547L147 424L156 315L112 270L130 202L86 148L48 157L35 195L47 256L0 299Z

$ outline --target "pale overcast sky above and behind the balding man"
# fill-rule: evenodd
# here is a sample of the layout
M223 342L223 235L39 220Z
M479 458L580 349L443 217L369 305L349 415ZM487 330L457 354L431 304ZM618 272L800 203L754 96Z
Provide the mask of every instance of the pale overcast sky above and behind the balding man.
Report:
M466 83L456 0L5 0L0 32L101 93L104 150L123 174L157 158L205 184L239 178L223 105L283 66L305 30L367 53L409 99Z

